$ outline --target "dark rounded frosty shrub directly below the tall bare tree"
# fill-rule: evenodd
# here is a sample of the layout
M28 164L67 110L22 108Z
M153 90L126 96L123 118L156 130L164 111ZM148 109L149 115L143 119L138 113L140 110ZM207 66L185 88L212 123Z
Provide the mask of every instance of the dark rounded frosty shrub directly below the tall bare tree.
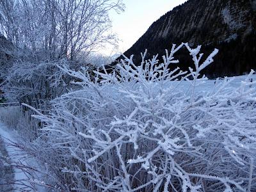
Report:
M59 62L59 61L58 61ZM63 73L56 67L54 61L17 60L13 62L8 75L4 77L2 89L8 100L26 102L36 108L42 108L44 102L54 99L63 92L63 84L56 82ZM63 62L63 61L61 61ZM67 79L65 79L67 80Z

